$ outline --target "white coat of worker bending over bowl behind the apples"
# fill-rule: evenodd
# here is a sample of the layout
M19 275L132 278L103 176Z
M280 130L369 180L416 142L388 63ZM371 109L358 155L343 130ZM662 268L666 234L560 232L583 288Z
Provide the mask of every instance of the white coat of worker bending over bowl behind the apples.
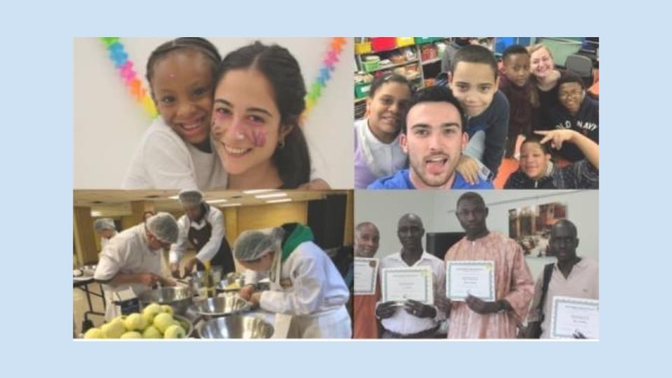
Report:
M118 273L153 273L161 275L162 258L160 249L152 251L149 248L145 235L145 225L141 223L120 232L110 239L109 243L100 253L100 260L98 261L93 278L99 281L108 281L113 279ZM118 286L104 283L103 290L105 290L105 300L107 302L105 310L106 320L110 320L118 315L112 303L113 293L127 288L132 288L137 295L151 289L151 287L141 283Z

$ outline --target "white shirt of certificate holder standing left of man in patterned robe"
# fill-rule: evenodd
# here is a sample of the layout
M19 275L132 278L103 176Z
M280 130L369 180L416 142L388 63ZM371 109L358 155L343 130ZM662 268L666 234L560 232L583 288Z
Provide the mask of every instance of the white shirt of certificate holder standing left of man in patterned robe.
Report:
M446 266L445 262L431 253L423 251L420 259L412 266L409 266L401 258L401 252L388 255L380 260L378 272L382 281L382 269L398 267L428 267L432 271L432 283L434 289L434 298L445 296L446 294ZM436 300L436 299L435 299ZM395 314L389 318L384 318L380 322L386 330L399 333L401 335L411 335L434 328L440 321L445 320L443 311L436 308L435 318L419 318L406 312L403 307L397 307Z

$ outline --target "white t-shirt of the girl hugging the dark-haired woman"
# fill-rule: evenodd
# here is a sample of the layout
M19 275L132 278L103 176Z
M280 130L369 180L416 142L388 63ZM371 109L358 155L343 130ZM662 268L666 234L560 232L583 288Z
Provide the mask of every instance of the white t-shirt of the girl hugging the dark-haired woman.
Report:
M217 153L204 153L157 117L142 137L123 189L225 189L227 175Z

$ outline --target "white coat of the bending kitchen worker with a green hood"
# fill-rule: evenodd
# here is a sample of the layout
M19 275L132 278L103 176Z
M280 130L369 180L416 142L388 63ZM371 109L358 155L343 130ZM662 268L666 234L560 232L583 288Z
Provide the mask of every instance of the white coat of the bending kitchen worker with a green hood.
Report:
M289 338L349 338L351 321L345 307L349 290L329 256L312 241L299 244L285 262L274 262L271 290L264 291L259 306L265 311L291 316ZM246 283L260 274L246 271Z

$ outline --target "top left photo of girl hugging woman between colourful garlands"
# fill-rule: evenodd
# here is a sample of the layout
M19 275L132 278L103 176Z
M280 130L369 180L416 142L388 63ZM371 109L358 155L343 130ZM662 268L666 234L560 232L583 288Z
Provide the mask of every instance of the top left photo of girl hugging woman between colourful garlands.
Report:
M73 188L353 188L352 38L74 38Z

